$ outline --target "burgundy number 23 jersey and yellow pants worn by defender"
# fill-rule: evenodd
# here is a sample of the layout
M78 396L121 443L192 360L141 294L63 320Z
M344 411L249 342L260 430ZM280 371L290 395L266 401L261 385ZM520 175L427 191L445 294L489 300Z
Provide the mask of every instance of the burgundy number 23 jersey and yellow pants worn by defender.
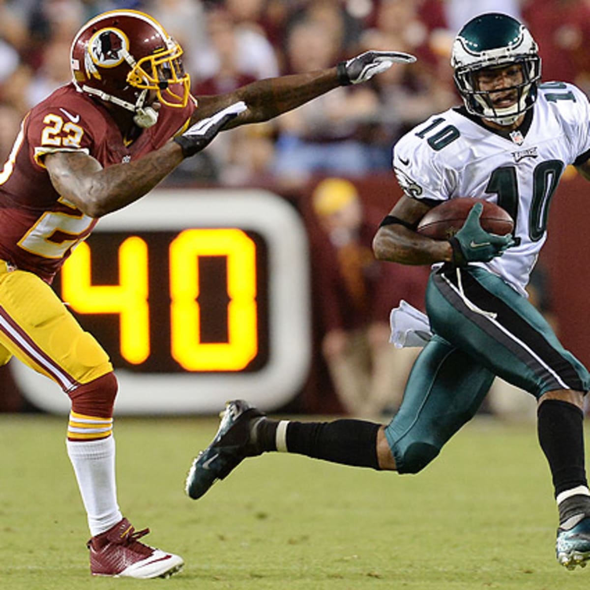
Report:
M48 286L97 219L55 191L43 157L82 151L103 168L130 162L183 130L194 108L191 100L181 109L162 106L158 123L132 143L103 104L74 84L27 114L0 173L0 363L15 355L64 391L112 371L101 346Z

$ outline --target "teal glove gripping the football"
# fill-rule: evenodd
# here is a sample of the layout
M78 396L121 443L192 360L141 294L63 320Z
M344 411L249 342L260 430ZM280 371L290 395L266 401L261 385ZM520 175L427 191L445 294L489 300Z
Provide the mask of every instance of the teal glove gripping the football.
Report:
M466 266L470 262L489 262L514 245L512 234L489 234L481 228L479 218L483 205L476 203L467 215L463 227L449 240L453 248L453 264Z

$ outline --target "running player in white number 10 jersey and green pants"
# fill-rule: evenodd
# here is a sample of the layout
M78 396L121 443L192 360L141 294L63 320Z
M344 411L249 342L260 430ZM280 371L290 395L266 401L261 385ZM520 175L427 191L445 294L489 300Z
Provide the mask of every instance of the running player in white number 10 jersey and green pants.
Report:
M273 450L417 473L473 417L499 375L538 400L539 442L559 509L557 558L573 569L590 559L582 429L590 374L529 303L525 287L563 169L573 164L590 179L590 106L571 84L540 83L536 42L504 14L464 25L452 64L464 106L432 116L395 146L405 195L373 244L379 260L433 265L426 303L434 335L415 362L398 414L387 426L276 422L247 402L230 402L214 440L194 461L186 491L201 497L244 457ZM449 241L415 231L432 207L463 196L501 205L514 219L514 235L484 231L481 204Z

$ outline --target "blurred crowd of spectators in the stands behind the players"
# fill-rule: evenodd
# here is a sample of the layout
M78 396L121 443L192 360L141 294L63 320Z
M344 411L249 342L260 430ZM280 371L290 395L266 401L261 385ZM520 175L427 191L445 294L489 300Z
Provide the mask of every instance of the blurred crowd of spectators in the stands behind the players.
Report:
M27 110L70 80L78 28L113 8L152 14L181 43L195 96L327 67L368 48L418 56L273 122L222 134L181 166L176 183L301 183L389 170L399 136L458 103L451 42L478 12L523 19L539 41L543 78L590 90L588 0L0 0L0 159Z

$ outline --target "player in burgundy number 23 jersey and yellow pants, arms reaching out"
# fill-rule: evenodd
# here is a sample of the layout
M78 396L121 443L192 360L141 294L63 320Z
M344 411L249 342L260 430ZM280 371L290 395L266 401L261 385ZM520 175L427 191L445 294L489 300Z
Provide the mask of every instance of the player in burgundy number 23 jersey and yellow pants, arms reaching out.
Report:
M71 398L67 450L87 512L95 575L154 578L183 560L144 545L119 510L109 357L50 287L97 218L146 195L222 129L270 119L404 53L368 51L336 67L194 99L182 49L142 12L87 22L71 47L73 81L25 116L0 172L0 363L16 356Z

